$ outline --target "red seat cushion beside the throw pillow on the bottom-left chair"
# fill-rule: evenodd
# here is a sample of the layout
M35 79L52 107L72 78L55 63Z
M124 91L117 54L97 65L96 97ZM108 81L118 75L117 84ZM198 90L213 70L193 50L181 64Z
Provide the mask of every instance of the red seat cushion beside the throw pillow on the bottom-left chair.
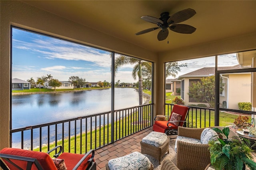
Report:
M73 153L68 153L68 152L63 152L60 154L58 157L59 159L64 159L64 162L66 164L66 167L68 170L72 170L76 164L82 159L84 154L73 154ZM89 155L86 157L86 159L82 162L82 164L78 167L78 170L84 170L87 168L88 160L91 158L92 155Z

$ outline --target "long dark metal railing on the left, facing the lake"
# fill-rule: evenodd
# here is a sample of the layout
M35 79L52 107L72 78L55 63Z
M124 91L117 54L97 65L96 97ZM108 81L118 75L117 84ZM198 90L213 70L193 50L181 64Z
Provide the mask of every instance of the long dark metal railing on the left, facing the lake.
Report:
M10 130L10 147L86 153L152 126L152 104Z

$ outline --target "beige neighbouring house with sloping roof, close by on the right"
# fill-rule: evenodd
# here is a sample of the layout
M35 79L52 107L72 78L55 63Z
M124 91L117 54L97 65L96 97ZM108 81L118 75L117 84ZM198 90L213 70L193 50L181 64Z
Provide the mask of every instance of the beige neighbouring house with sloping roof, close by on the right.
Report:
M218 67L218 70L241 69L240 65L232 67ZM193 83L200 81L203 77L212 76L215 73L215 67L204 67L196 71L181 75L178 80L181 81L181 98L186 105L205 103L194 99L188 95ZM251 102L251 73L228 73L221 74L222 82L225 83L224 90L220 91L220 107L229 109L238 109L239 102ZM232 93L230 93L232 92Z

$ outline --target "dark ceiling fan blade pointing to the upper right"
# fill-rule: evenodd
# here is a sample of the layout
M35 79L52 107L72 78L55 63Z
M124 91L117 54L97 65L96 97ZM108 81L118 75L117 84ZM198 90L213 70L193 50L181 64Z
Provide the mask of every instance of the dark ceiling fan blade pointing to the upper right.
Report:
M176 12L172 16L170 16L170 18L167 20L167 23L168 24L177 24L177 23L183 22L185 20L188 20L195 14L196 14L196 11L191 8L181 10L179 12Z

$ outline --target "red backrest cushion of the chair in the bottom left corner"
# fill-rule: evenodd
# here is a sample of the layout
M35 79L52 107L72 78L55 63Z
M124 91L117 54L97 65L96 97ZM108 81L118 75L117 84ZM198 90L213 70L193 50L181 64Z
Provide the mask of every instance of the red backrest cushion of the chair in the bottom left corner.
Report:
M0 151L0 153L16 155L16 156L25 156L29 158L36 158L44 170L57 170L56 166L52 161L52 158L50 157L49 154L45 152L37 152L33 150L24 150L24 149L18 149L18 148L4 148ZM20 166L22 169L26 169L26 166L27 166L26 161L14 160L14 159L10 159L10 160L15 164L17 164L18 166ZM10 163L6 162L6 164L11 170L18 170L18 168L16 168ZM35 164L32 165L31 170L38 170Z

